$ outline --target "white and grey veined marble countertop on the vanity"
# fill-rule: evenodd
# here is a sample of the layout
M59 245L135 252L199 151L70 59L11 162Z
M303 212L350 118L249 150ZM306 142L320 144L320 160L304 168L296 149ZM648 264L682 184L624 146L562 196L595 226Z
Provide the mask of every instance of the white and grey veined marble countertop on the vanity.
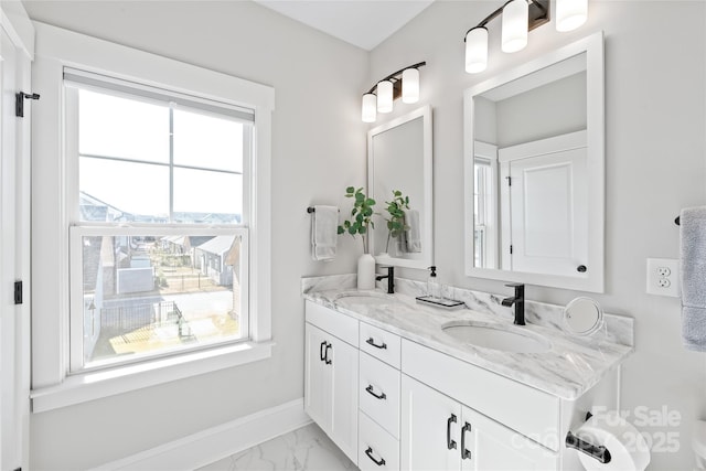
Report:
M386 300L371 303L364 298L351 297L355 292L372 293ZM617 343L600 332L580 338L550 325L527 323L518 327L492 312L471 309L443 310L420 304L413 296L404 293L385 295L381 290L355 291L339 288L311 290L304 292L303 297L404 339L569 400L580 397L598 384L633 351L631 345ZM526 330L530 335L541 335L548 340L552 347L543 353L514 353L474 346L442 331L443 324L454 321Z

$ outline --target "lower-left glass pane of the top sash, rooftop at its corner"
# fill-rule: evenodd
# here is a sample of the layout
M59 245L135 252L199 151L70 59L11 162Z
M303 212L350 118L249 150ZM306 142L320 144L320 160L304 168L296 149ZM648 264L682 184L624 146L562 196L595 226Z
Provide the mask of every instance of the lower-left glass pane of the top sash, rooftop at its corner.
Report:
M82 221L168 221L168 167L90 157L78 164Z

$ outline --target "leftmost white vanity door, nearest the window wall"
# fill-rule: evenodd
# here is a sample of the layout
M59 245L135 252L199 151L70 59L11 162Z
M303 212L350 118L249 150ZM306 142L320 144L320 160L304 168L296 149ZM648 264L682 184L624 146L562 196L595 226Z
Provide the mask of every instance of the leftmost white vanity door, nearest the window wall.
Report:
M321 329L304 324L304 411L327 433L331 430L331 368L322 360L328 335Z

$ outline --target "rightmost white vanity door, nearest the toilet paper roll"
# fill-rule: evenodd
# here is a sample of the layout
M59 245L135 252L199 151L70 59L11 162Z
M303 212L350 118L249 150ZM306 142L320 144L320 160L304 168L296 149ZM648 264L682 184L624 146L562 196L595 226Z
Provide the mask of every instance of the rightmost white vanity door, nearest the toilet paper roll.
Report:
M507 427L463 407L459 447L463 471L558 470L558 456Z

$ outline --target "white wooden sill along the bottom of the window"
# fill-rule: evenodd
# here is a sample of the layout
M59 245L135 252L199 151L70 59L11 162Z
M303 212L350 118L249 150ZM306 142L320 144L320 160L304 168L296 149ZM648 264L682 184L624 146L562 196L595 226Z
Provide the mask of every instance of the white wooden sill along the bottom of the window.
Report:
M32 413L44 413L176 379L243 365L271 356L274 342L244 342L170 358L142 362L66 377L32 390Z

